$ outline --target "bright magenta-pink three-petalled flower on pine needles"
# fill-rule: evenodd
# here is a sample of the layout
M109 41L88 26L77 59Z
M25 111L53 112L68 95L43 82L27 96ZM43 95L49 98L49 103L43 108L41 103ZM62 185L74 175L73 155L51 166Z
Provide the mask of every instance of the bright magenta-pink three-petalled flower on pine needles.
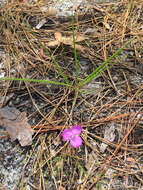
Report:
M81 133L81 125L74 125L71 129L65 129L62 132L62 137L64 141L70 141L74 148L78 148L82 144L82 139L79 136Z

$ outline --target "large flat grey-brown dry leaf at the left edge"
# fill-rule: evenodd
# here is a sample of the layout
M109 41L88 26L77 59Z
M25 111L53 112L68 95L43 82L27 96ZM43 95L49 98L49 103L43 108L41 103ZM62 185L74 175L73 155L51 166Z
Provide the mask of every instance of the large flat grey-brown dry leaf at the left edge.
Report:
M7 130L11 141L18 139L21 146L31 145L34 130L27 122L26 113L14 107L1 108L0 125Z

